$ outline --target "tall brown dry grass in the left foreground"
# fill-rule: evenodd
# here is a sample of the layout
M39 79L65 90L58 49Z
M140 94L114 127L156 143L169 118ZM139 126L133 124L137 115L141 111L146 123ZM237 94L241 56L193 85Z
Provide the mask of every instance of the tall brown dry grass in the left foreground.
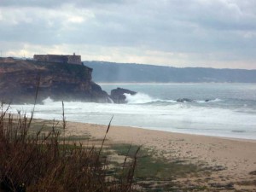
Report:
M60 139L55 123L51 131L32 133L32 117L13 116L8 108L3 111L3 104L1 108L0 191L133 191L136 155L128 172L109 176L108 157L102 147L84 147ZM65 127L63 104L64 134Z

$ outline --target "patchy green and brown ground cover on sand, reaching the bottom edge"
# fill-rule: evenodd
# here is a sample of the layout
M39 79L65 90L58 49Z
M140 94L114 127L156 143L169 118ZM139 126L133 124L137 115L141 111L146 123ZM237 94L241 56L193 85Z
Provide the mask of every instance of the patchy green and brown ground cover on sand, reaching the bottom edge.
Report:
M139 146L129 144L113 144L111 148L119 155L134 157ZM130 148L130 150L129 150ZM129 153L127 153L129 151ZM184 160L166 160L155 156L155 151L141 148L137 154L137 169L135 182L145 191L202 191L205 186L193 186L193 189L175 183L174 180L183 177L199 177L205 170L201 166ZM122 165L119 165L122 166Z

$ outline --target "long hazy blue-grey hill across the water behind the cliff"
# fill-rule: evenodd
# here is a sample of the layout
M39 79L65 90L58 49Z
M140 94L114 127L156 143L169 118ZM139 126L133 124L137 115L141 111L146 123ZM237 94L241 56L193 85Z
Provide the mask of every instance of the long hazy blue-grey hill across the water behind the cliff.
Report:
M163 67L153 65L83 61L93 68L95 82L140 83L256 83L256 70L204 67Z

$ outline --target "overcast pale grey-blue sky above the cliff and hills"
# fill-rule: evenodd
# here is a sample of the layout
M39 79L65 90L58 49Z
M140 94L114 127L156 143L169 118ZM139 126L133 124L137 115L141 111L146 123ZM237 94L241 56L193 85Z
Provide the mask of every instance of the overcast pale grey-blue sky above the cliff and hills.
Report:
M1 56L256 69L255 0L0 0Z

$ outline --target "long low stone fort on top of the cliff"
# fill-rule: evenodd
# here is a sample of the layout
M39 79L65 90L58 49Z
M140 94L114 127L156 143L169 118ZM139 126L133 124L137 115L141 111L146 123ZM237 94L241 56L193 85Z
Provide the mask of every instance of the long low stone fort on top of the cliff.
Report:
M34 55L35 61L61 62L82 65L81 55Z

